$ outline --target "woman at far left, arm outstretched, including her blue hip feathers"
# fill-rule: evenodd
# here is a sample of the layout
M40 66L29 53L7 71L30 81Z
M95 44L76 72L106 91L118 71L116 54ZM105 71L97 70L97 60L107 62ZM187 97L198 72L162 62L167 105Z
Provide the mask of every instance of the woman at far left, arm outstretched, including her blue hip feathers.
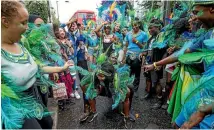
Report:
M16 100L2 97L2 101L7 99L1 105L3 128L51 129L51 116L44 115L41 97L37 86L34 86L36 74L62 72L73 64L66 62L63 67L38 66L20 43L21 35L28 28L28 11L18 1L2 1L1 7L1 73L3 82L18 96ZM30 97L32 100L29 101Z

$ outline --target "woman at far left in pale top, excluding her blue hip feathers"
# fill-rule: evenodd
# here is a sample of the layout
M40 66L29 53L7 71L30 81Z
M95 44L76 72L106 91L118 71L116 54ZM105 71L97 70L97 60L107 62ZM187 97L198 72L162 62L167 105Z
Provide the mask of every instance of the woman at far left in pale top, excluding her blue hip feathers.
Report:
M20 86L19 89L24 95L33 95L40 102L37 87L34 87L37 72L62 72L68 69L72 63L66 62L63 67L38 66L25 47L18 43L21 35L28 29L28 11L18 1L2 1L1 7L1 73L13 85ZM34 109L33 106L32 109ZM52 119L50 116L41 116L40 119L29 119L28 117L17 118L23 120L22 128L24 129L52 128ZM14 122L11 121L9 123ZM6 128L6 122L3 122L3 124L3 127ZM15 127L14 129L17 128Z

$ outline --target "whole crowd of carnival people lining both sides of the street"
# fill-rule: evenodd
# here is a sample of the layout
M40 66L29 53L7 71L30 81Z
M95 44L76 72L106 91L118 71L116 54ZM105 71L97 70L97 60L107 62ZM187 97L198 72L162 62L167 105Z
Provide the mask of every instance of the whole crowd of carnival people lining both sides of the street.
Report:
M74 18L45 23L22 2L1 1L2 128L51 129L47 102L59 83L67 92L60 110L83 99L81 123L94 121L96 97L105 96L129 128L133 97L145 87L142 100L157 98L152 108L167 109L173 128L214 128L214 2L186 7L176 3L168 25L153 17L86 27Z

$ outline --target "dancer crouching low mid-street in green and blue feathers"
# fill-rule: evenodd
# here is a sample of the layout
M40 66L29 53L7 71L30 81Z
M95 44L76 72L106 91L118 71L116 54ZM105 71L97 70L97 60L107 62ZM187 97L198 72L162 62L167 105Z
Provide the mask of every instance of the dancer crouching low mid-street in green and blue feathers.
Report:
M112 109L115 109L120 102L123 103L124 123L127 128L130 110L128 85L133 82L133 79L129 77L128 66L117 72L109 61L102 63L100 67L97 66L93 73L86 75L81 81L82 90L88 98L91 111L84 113L80 121L92 122L94 120L98 115L95 98L101 95L113 99Z

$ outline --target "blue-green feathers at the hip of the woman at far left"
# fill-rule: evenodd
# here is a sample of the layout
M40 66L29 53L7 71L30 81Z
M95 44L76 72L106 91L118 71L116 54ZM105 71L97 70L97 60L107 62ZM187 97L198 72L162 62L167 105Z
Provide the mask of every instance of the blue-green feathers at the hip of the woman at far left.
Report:
M5 129L20 129L24 119L41 119L46 113L44 106L32 95L22 92L21 86L14 85L1 74L1 120Z

